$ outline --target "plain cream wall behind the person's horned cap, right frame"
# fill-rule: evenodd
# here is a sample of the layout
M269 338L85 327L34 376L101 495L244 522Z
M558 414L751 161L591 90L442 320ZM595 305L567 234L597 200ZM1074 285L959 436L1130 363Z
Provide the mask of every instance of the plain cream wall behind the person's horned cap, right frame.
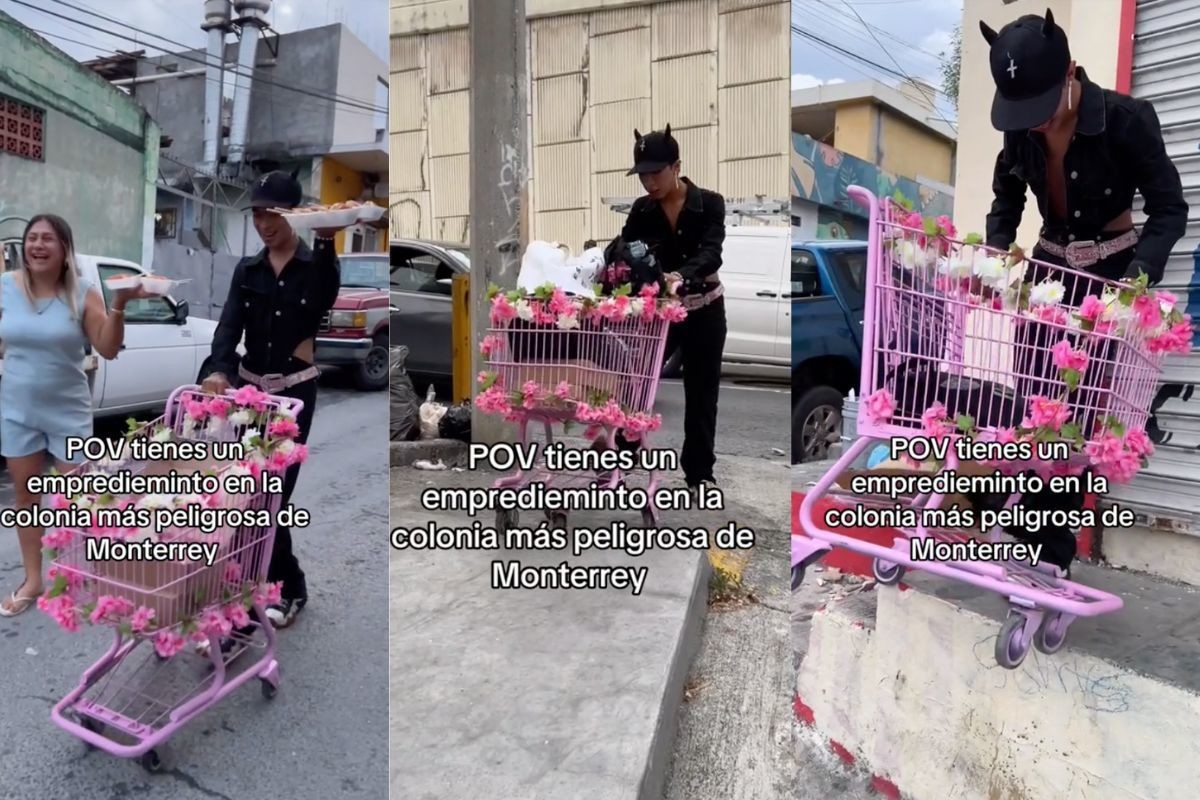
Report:
M988 44L979 34L984 19L1000 30L1021 14L1054 12L1070 38L1073 58L1088 77L1103 86L1116 83L1116 53L1121 0L1016 0L1001 5L994 0L964 0L962 67L959 85L959 156L954 185L954 222L960 230L984 229L991 207L991 178L996 154L1003 142L991 127L991 98L995 84L988 68ZM1018 243L1026 249L1037 242L1042 219L1032 193L1018 231Z

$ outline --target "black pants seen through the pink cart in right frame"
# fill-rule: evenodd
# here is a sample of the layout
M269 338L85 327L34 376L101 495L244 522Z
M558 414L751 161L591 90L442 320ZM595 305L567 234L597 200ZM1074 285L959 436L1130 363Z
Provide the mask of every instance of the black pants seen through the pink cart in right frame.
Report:
M1133 248L1126 249L1088 267L1086 272L1090 272L1091 275L1109 281L1120 279L1124 275L1126 269L1128 269L1129 263L1133 260L1133 254L1134 254ZM1063 259L1045 252L1044 249L1042 249L1040 245L1033 249L1032 258L1039 261L1045 261L1048 264L1055 264L1060 266L1066 265L1066 261ZM1030 277L1032 281L1034 281L1034 283L1045 279L1045 276L1040 273L1044 272L1043 270L1034 269L1031 272L1032 273ZM1066 293L1062 303L1064 306L1078 307L1079 303L1084 301L1085 296L1087 296L1088 294L1099 293L1099 287L1094 283L1088 285L1088 283L1091 283L1088 281L1064 279L1063 283ZM1016 360L1018 371L1021 374L1032 377L1052 375L1055 368L1054 365L1050 362L1050 356L1046 350L1063 337L1063 331L1061 329L1051 327L1049 325L1039 325L1037 323L1024 321L1022 325L1025 326L1025 330L1018 335L1018 342L1024 341L1030 344L1037 344L1039 345L1039 348L1038 351L1032 355L1032 357L1028 355L1028 353L1022 354L1025 357L1021 357L1021 355L1018 356ZM1111 344L1109 344L1108 347L1111 347ZM1104 355L1108 354L1102 353L1098 355L1103 357ZM1085 378L1085 383L1090 383L1090 380ZM1048 395L1054 397L1061 391L1062 391L1061 386L1056 385L1055 383L1050 381L1043 383L1039 380L1032 380L1028 381L1026 391L1022 393L1026 396L1026 398L1030 395ZM1096 402L1094 398L1087 398L1087 401L1090 404L1094 404ZM1079 415L1078 410L1073 413L1073 416L1076 415ZM1094 420L1091 419L1092 415L1090 414L1082 416L1084 419L1076 419L1075 421L1080 422L1084 426L1085 433L1088 433L1088 429L1091 428ZM1086 480L1087 480L1086 476L1080 479L1080 482L1082 483L1081 487L1082 489L1087 488ZM972 500L976 499L978 498L974 498ZM991 499L992 503L995 503L996 500L997 500L996 498ZM984 501L986 503L986 500ZM1020 500L1020 504L1025 509L1037 510L1037 511L1081 511L1084 507L1084 492L1082 491L1051 492L1049 487L1046 487L1042 492L1026 495ZM1075 559L1076 534L1075 531L1070 530L1070 528L1068 528L1067 525L1046 524L1037 531L1030 531L1025 528L1020 528L1016 525L1007 525L1004 528L1004 533L1013 536L1014 539L1025 542L1034 545L1040 543L1043 546L1042 560L1060 566L1064 570L1068 569L1072 561L1074 561Z

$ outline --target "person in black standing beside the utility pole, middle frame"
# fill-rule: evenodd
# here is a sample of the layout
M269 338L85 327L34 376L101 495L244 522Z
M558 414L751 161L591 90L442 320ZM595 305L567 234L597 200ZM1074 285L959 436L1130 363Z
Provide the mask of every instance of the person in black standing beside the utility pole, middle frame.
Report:
M692 489L715 483L716 395L725 351L725 287L718 270L725 242L725 198L680 178L679 144L671 126L642 136L634 131L634 168L646 190L634 201L626 242L644 242L667 282L679 282L688 319L671 326L672 347L683 356L684 444L679 462Z

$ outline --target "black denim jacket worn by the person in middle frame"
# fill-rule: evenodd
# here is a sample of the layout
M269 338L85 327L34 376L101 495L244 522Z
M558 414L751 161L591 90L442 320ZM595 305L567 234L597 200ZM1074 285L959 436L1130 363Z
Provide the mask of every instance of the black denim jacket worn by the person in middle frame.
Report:
M706 278L721 267L725 198L686 178L683 182L688 186L688 199L676 228L656 200L642 196L634 200L620 236L628 242L646 242L664 272L678 272L685 281Z

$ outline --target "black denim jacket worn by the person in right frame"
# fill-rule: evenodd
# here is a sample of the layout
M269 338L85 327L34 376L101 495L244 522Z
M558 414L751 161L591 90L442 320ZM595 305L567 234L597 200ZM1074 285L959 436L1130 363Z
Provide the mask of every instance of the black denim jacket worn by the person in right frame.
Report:
M1099 239L1104 225L1133 207L1136 191L1145 200L1146 223L1128 275L1140 267L1157 283L1188 222L1180 173L1166 155L1158 114L1146 101L1102 89L1082 67L1076 73L1082 84L1079 119L1063 158L1067 218L1052 218L1040 134L1006 133L992 179L988 245L1006 249L1016 239L1026 187L1037 198L1043 235L1058 243Z

